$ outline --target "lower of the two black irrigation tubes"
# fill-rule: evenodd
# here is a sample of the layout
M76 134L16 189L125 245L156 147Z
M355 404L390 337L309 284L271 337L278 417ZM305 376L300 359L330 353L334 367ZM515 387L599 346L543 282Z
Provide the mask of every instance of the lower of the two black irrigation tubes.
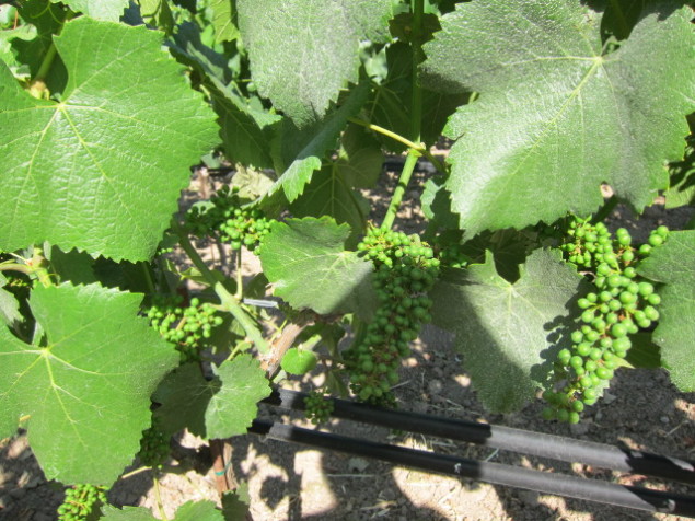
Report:
M250 432L348 454L373 458L397 465L470 477L479 482L536 490L617 507L695 517L695 497L609 482L532 471L501 463L480 462L432 452L302 429L256 419Z

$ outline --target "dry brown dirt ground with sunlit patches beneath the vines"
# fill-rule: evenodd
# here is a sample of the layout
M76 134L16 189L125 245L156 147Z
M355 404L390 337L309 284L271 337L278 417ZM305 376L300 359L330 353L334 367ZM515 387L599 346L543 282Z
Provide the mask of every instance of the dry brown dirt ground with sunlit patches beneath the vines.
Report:
M416 177L421 181L426 175L428 173L421 171ZM389 180L393 183L393 176L390 176L381 186L381 193L377 190L373 197L378 212L383 211ZM413 199L417 193L412 189L407 195ZM407 200L404 207L406 222L417 228L419 216L413 212ZM638 231L662 223L677 229L691 217L692 209L667 211L663 206L655 205L639 220L625 208L617 208L610 220L614 227L627 225ZM679 393L670 384L665 371L618 371L604 400L584 414L581 424L567 426L542 420L540 402L512 415L486 413L471 387L464 367L462 356L452 347L450 335L426 327L421 338L414 343L412 357L403 363L402 384L396 390L399 407L695 460L695 393ZM308 389L310 380L321 383L321 374L312 374L304 381L286 382L285 386ZM260 416L270 413L262 407ZM292 419L300 426L310 425L297 414L282 418ZM324 429L443 454L695 495L695 487L667 485L659 479L624 476L581 464L564 464L419 435L395 436L386 429L348 421L332 420ZM189 435L178 441L190 448L192 453L201 445L200 440ZM256 521L684 519L428 474L253 435L234 438L232 445L233 471L238 479L248 486L251 514ZM177 506L187 500L217 498L212 472L209 468L196 471L187 458L181 460L172 460L170 468L174 472L160 481L162 503L169 519L173 518ZM152 484L150 472L121 479L109 491L109 501L117 506L149 507L161 517ZM57 519L55 509L62 495L59 484L45 479L25 435L19 433L0 445L0 520Z

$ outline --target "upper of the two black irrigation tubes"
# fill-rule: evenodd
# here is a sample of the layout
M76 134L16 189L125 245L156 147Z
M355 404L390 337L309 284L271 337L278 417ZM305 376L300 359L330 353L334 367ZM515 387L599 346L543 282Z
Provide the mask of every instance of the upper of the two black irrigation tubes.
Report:
M304 409L304 397L305 393L279 390L274 391L264 403L283 408ZM511 427L386 409L345 400L333 398L332 402L332 416L337 418L557 461L584 463L601 468L695 484L695 463L686 460Z

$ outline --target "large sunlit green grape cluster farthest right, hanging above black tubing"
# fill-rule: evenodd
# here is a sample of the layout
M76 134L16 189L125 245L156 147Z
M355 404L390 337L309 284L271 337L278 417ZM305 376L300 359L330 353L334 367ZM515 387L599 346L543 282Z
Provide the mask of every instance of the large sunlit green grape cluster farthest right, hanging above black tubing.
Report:
M594 291L579 299L582 310L579 329L571 334L571 349L561 349L555 362L559 390L547 390L546 419L576 424L587 405L593 405L601 390L624 364L632 347L629 335L659 320L661 302L651 282L637 274L636 266L669 234L667 227L651 232L647 244L632 246L629 232L621 228L615 238L603 223L574 219L568 241L560 246L566 258L595 274Z

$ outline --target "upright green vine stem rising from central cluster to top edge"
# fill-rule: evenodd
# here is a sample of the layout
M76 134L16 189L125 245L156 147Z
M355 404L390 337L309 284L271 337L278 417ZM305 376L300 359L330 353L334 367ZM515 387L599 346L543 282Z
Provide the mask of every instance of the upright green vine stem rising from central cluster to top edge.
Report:
M425 11L425 0L413 0L413 26L410 32L412 46L412 68L413 68L413 95L410 97L410 142L415 144L420 140L420 131L422 126L422 89L418 82L418 66L422 61L422 13ZM403 196L408 187L417 160L422 153L427 153L424 147L410 147L405 164L398 177L398 184L393 190L386 216L384 217L381 228L391 229L393 221L396 219L398 208L403 201ZM435 164L435 163L432 163Z

